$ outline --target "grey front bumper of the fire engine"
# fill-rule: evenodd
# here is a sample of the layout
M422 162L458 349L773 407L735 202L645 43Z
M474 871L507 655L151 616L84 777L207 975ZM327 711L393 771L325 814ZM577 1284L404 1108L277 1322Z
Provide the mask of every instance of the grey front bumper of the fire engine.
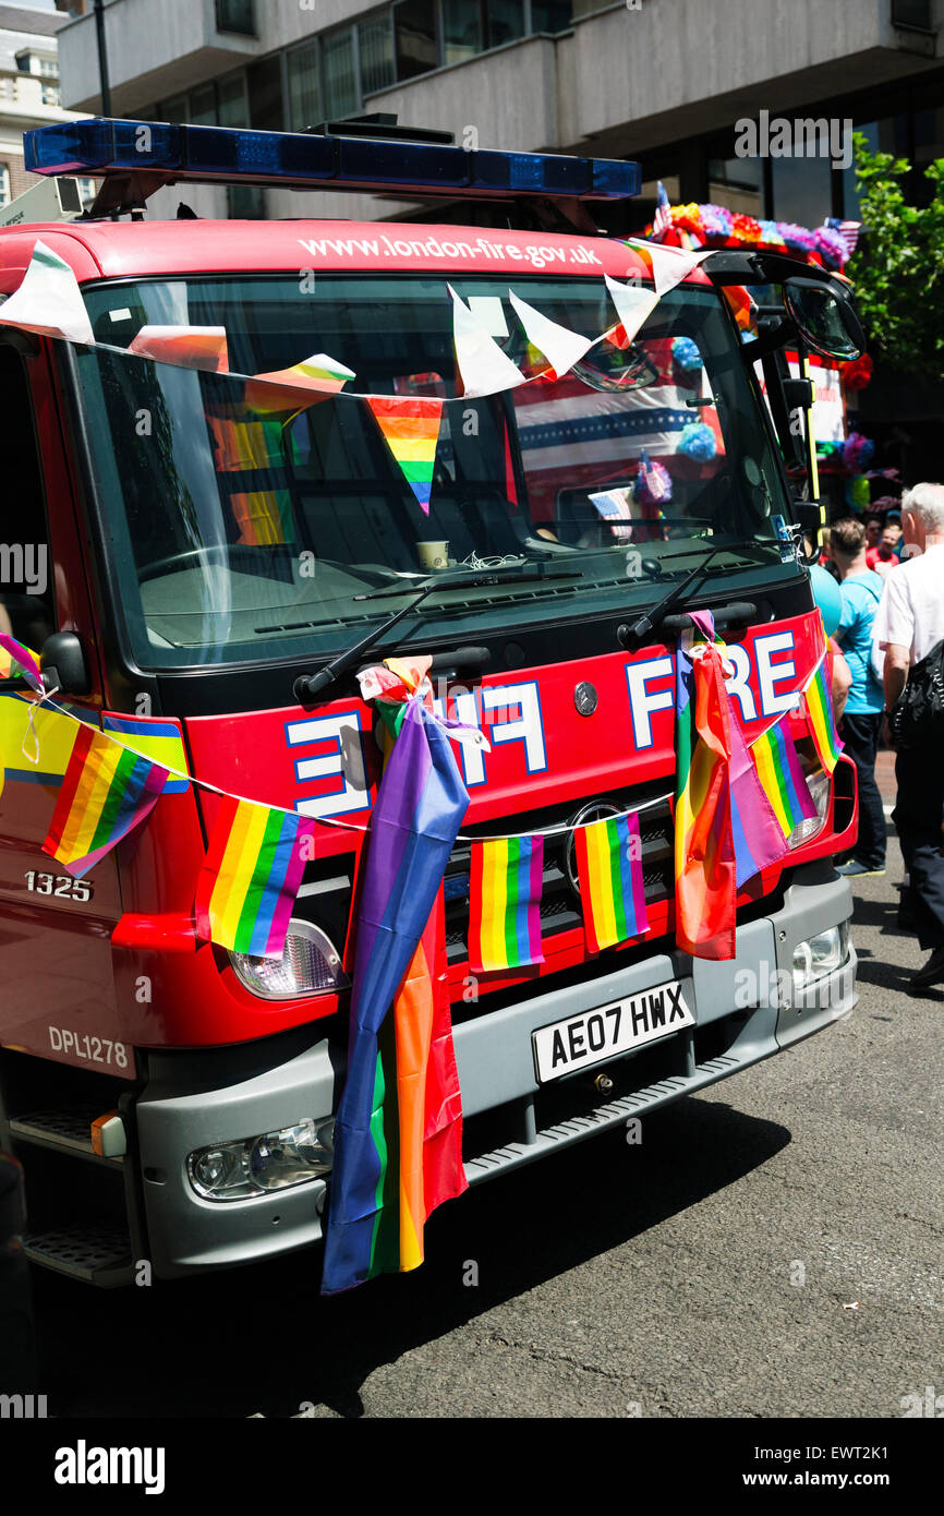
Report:
M461 1020L455 1046L470 1182L694 1095L849 1014L858 998L855 949L803 993L791 969L799 941L850 914L847 881L829 861L806 864L794 870L780 910L738 928L738 957L730 963L653 954ZM532 1031L667 979L682 979L695 1007L694 1028L595 1064L592 1078L538 1084ZM324 1181L220 1204L195 1195L185 1163L197 1148L330 1114L342 1087L342 1058L326 1023L236 1048L150 1055L136 1140L155 1273L249 1263L321 1239ZM606 1098L602 1073L612 1084Z

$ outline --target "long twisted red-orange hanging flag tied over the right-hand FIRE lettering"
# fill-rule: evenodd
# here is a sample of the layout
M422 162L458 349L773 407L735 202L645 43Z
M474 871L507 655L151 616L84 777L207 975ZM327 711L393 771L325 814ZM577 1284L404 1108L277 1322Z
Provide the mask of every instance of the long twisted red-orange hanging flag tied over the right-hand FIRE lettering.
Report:
M676 655L676 941L695 958L735 957L736 863L730 820L730 713L714 619L692 612Z

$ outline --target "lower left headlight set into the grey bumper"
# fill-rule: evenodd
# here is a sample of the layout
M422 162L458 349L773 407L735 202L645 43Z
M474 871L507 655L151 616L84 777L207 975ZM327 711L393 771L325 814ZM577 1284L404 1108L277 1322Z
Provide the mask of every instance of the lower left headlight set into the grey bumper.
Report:
M330 1172L335 1120L306 1117L295 1126L262 1132L188 1154L186 1176L205 1201L245 1201L306 1184Z

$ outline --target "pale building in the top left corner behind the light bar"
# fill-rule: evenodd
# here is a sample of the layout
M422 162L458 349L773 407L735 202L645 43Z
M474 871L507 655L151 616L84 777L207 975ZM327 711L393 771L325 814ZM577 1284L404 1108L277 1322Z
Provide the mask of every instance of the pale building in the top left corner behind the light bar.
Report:
M55 11L0 5L0 206L38 182L23 167L23 133L73 117L59 102L62 24Z

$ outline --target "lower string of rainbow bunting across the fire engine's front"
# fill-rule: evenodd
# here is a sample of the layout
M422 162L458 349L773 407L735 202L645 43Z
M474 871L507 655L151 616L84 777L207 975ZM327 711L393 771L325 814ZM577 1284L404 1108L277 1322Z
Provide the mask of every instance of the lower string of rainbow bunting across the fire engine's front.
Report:
M708 625L699 631L705 635ZM705 646L714 644L709 640L702 649ZM679 649L680 669L691 672L697 650L691 634L686 634ZM823 767L832 773L841 743L823 678L824 655L826 641L820 662L800 693L806 696L817 752ZM389 723L394 732L399 731L406 709L405 700L415 697L447 737L488 749L488 740L477 729L441 720L433 714L432 687L427 678L429 658L420 658L414 664L399 659L389 662L392 667L370 669L361 676L364 699L373 702L385 717L382 726ZM315 828L330 825L362 832L370 829L370 823L359 825L339 817L306 817L280 807L267 807L156 763L135 750L124 738L118 740L89 726L52 699L42 684L36 655L6 634L0 634L0 676L23 678L39 696L30 702L30 728L36 713L47 708L76 723L76 740L48 834L42 843L44 852L73 876L82 878L88 873L150 816L170 778L183 779L220 796L223 803L211 831L195 888L195 931L205 941L253 957L280 957L305 861L315 854ZM682 676L679 688L682 693L676 702L676 726L677 732L683 734L691 702L685 697ZM392 720L389 706L395 711ZM694 711L689 714L694 716ZM786 854L786 838L799 820L815 816L792 738L783 726L783 716L755 741L753 749L749 749L739 737L736 722L730 719L729 723L730 734L736 734L729 735L729 825L738 888L762 867ZM692 741L691 734L688 744L688 749L683 741L679 744L677 879L685 875L692 860L703 861L705 849L691 834L694 819L708 814L705 799L711 790L711 782L700 781L697 773L692 782L691 753L697 760L699 747L697 738ZM588 948L599 952L642 937L649 931L649 920L638 817L656 805L664 805L665 799L667 796L658 796L603 822L576 828L561 825L500 837L456 832L456 840L471 844L470 966L473 970L517 969L544 961L539 919L544 838L555 835L576 837ZM694 876L703 882L697 870ZM700 913L703 917L702 907L703 902L695 914Z

